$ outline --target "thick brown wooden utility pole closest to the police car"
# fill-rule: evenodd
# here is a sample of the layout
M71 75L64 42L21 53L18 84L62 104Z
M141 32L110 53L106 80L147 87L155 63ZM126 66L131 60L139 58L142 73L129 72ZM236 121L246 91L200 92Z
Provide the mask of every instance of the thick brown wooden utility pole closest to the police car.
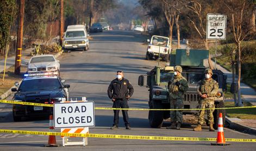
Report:
M18 33L17 33L17 48L16 48L16 59L15 59L15 74L21 73L21 51L22 51L22 41L23 41L23 20L24 20L24 8L25 0L20 1L19 8L19 20L18 20Z

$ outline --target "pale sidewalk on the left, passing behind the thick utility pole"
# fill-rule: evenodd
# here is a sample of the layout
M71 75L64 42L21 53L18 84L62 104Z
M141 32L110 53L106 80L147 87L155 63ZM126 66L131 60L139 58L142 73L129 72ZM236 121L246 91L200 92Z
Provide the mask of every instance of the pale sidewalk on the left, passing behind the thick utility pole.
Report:
M32 52L33 48L28 48L28 49L24 49L22 51L22 57L21 57L21 65L26 66L26 64L28 63L30 57L29 54L30 52ZM11 66L15 65L15 56L11 56L9 58L7 58L7 62L6 62L6 68L9 68ZM0 60L0 72L4 71L4 59Z

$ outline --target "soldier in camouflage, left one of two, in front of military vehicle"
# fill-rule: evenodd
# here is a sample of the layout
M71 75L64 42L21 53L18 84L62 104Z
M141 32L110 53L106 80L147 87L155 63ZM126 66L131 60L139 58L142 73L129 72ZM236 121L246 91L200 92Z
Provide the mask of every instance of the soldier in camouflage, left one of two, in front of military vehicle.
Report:
M168 91L171 109L183 109L184 92L188 91L188 81L182 76L182 67L174 67L174 77L168 82ZM171 126L166 129L180 129L182 124L182 110L171 111ZM178 122L178 123L177 123ZM177 123L177 127L176 127Z

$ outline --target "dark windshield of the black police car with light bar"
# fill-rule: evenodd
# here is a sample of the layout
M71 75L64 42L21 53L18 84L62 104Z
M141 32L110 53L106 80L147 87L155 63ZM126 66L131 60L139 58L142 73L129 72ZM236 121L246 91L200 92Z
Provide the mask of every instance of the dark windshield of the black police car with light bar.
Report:
M61 84L58 79L31 79L31 80L23 80L19 90L20 91L55 90L60 88L61 88Z

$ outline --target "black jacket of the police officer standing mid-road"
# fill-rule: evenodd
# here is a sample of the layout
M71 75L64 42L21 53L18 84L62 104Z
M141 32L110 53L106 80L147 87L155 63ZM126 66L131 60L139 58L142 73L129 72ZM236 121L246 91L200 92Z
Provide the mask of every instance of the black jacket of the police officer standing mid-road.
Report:
M131 97L133 95L133 91L133 86L132 84L130 84L129 80L123 78L121 81L119 81L116 78L113 81L111 81L108 87L108 96L110 99L125 99L126 97L128 97L128 95Z

